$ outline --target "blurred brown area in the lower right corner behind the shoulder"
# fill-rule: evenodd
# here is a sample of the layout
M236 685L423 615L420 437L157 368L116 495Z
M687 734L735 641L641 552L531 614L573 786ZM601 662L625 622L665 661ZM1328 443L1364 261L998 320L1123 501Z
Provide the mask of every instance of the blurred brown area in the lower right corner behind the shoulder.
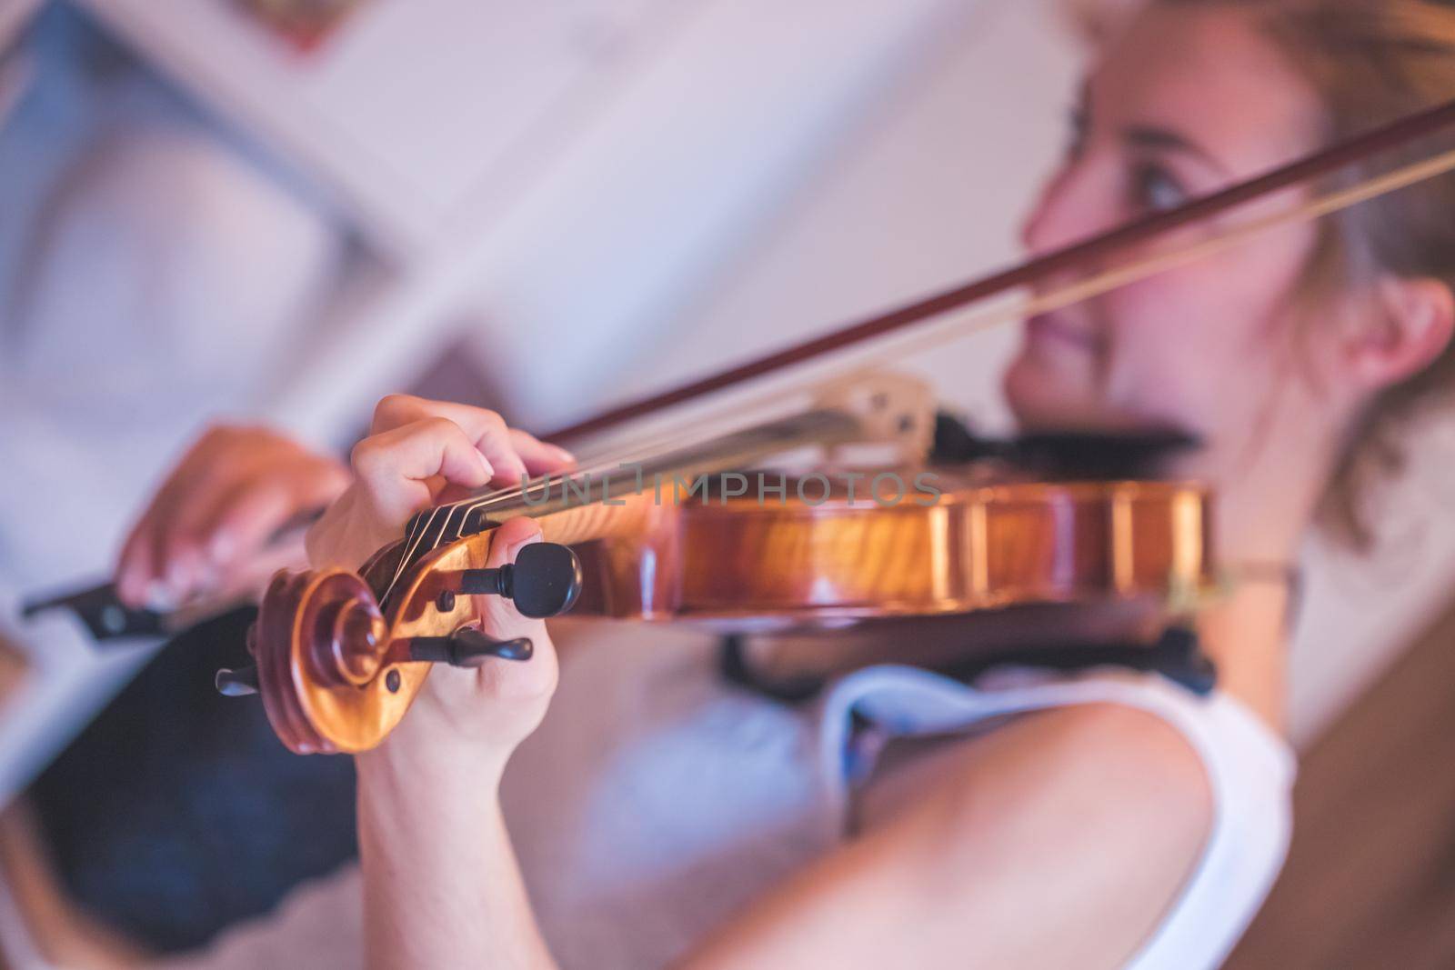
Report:
M1288 865L1225 970L1455 967L1455 606L1299 761Z

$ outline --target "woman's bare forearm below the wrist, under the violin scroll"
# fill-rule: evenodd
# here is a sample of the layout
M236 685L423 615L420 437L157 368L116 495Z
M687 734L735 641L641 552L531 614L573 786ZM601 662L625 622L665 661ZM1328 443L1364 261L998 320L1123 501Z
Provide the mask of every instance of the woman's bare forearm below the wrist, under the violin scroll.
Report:
M501 814L499 771L358 758L370 970L554 967ZM423 775L429 775L428 778Z

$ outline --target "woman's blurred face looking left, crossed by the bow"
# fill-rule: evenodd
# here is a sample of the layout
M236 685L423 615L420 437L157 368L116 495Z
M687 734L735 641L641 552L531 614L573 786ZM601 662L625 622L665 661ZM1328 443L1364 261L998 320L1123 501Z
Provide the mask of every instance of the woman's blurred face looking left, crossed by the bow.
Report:
M1176 208L1312 151L1320 129L1314 90L1248 15L1151 10L1087 81L1026 244L1043 253ZM1314 243L1311 225L1273 230L1029 320L1005 374L1011 409L1026 428L1154 425L1245 441L1289 380L1277 337Z

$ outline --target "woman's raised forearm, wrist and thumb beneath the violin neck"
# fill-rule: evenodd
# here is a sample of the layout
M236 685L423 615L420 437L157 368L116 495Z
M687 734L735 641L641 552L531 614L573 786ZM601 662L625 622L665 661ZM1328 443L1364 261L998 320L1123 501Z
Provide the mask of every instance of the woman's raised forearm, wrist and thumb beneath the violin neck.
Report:
M489 566L538 538L528 519L505 522ZM485 598L480 617L490 637L530 637L531 659L435 665L409 714L354 759L371 970L556 967L499 798L506 762L556 691L556 649L508 599Z

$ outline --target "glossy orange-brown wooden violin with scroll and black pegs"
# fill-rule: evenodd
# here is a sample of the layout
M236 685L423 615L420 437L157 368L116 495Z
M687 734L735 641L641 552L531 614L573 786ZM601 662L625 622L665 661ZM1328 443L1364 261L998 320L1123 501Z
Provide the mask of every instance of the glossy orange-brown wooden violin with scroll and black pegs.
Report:
M835 406L665 449L630 474L567 473L429 509L359 573L279 573L252 631L247 686L294 752L359 752L399 723L432 663L530 656L528 641L479 631L482 593L509 596L528 617L573 608L741 633L1187 601L1215 582L1211 493L1197 483L930 464L934 414L912 381L861 375L831 397ZM760 464L866 444L889 445L896 461L794 473ZM515 516L535 519L544 542L483 569L495 526Z

